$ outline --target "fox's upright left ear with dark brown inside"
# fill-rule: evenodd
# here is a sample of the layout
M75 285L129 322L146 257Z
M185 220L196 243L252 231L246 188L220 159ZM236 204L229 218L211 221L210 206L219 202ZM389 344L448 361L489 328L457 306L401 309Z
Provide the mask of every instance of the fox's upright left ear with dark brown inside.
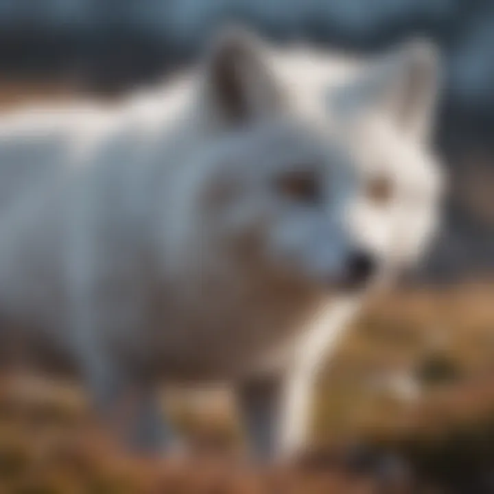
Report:
M240 27L228 27L213 40L204 75L207 105L220 124L262 119L280 108L261 40Z

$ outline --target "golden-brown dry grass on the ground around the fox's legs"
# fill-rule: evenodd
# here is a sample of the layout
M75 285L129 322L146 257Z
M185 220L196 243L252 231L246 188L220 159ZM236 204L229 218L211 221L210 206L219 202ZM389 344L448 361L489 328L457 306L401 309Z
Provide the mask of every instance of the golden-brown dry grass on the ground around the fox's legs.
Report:
M321 380L316 443L419 437L437 443L460 425L494 416L493 292L472 285L395 293L370 303ZM439 353L462 369L461 379L425 384L413 400L368 384L369 375L413 375L421 360ZM6 382L0 390L0 493L379 492L375 479L341 468L260 473L214 456L183 464L136 462L104 440L78 392ZM221 429L226 419L218 414L211 416ZM201 428L190 411L183 423Z

